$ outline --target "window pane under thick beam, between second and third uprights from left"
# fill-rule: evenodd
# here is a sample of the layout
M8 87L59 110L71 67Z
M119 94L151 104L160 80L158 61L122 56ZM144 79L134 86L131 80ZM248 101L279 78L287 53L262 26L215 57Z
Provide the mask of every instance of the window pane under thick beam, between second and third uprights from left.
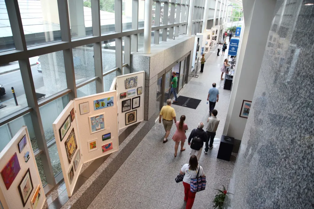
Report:
M93 44L75 47L73 51L73 64L75 82L80 83L95 76Z

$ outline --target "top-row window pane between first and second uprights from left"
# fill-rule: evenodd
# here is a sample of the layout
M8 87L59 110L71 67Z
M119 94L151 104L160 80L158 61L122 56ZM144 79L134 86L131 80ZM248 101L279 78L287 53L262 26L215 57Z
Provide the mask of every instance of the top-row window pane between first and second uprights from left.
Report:
M28 0L18 3L27 46L61 41L57 1Z

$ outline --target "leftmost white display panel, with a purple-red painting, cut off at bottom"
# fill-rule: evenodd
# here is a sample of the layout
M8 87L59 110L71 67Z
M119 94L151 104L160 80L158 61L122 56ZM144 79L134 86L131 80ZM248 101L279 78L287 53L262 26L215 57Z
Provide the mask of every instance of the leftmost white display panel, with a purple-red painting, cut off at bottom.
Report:
M26 153L29 154L29 158L26 158L27 162L24 159ZM43 208L46 196L26 126L23 126L1 151L0 169L0 201L4 209ZM11 178L7 178L8 176ZM32 199L37 188L40 195L36 195L33 205ZM22 202L21 194L24 196L25 204Z

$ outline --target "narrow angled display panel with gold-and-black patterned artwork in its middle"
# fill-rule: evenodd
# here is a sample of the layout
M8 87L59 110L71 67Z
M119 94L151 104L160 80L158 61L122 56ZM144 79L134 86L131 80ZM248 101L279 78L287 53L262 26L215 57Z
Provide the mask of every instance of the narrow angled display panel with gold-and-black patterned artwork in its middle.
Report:
M71 111L74 112L74 119L73 116L71 118ZM72 113L73 114L73 113ZM70 118L69 118L70 117ZM60 134L60 128L63 127L63 125L66 125L65 123L68 122L68 119L70 119L70 125L68 128L68 131L66 134L63 136L61 140L61 134ZM72 121L73 119L73 121ZM63 173L63 178L64 182L67 188L68 196L72 196L75 183L78 179L78 175L82 169L83 161L82 161L82 154L80 152L79 148L79 137L78 137L78 130L77 130L77 123L76 123L76 114L75 114L75 107L74 107L74 101L70 101L68 105L63 109L63 111L60 113L60 115L57 117L55 122L52 124L53 127L53 132L55 134L55 139L56 139L56 145L58 149L58 154L60 158L60 164L62 168L62 173ZM76 140L76 150L74 154L72 155L71 162L68 160L68 154L67 154L67 148L66 148L66 143L67 139L70 136L70 140L72 137L72 130L74 131L74 136ZM70 143L70 141L68 141ZM75 144L73 145L75 146ZM77 156L78 155L78 156ZM74 165L74 159L75 159L75 165ZM78 162L79 159L79 162ZM78 162L78 163L77 163ZM72 170L73 168L73 170ZM70 179L70 172L71 174L74 173L74 177Z

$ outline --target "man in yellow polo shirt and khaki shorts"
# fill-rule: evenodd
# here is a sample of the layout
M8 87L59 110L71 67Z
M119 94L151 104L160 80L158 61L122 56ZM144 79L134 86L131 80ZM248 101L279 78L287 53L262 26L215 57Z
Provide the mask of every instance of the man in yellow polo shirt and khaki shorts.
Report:
M162 124L164 124L164 128L166 131L165 138L162 143L166 143L168 141L167 138L170 134L173 120L176 123L176 112L175 112L175 109L171 107L171 103L172 103L172 100L168 99L167 105L161 108L160 115L159 115L159 123L161 123L161 117L162 117Z

